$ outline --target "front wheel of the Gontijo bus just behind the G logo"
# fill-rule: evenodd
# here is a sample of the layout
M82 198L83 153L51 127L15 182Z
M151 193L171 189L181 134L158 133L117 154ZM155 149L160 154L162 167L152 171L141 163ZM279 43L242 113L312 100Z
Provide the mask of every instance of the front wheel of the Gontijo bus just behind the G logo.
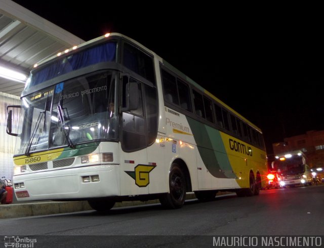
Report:
M182 170L173 164L169 173L170 193L160 197L161 205L168 209L179 209L186 200L186 181Z

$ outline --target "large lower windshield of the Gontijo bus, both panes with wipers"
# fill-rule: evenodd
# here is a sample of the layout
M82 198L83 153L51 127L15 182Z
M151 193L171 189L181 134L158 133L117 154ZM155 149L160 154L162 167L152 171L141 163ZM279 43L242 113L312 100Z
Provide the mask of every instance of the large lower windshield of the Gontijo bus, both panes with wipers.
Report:
M23 97L22 103L19 154L117 138L113 71L59 82Z

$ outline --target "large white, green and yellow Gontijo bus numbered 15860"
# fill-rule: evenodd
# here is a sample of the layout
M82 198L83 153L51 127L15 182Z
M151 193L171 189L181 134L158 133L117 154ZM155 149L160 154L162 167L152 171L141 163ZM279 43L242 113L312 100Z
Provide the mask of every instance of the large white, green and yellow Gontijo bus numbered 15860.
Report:
M148 48L118 33L73 47L31 71L17 136L18 201L159 199L186 192L258 195L266 175L262 131ZM12 111L20 109L17 129Z

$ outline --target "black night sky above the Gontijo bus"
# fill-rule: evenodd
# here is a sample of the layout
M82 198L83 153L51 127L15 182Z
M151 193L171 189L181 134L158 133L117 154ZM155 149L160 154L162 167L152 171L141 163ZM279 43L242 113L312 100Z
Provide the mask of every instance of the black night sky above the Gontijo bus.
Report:
M247 3L14 2L86 41L119 32L142 43L260 127L268 155L273 142L324 129L324 42L315 13Z

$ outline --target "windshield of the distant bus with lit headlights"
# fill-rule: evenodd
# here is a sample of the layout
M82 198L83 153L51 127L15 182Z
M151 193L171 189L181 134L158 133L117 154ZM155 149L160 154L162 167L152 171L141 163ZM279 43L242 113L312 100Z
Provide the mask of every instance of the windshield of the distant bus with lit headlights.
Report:
M282 176L305 173L305 163L303 163L303 158L300 156L293 156L285 160L276 160L274 165L277 168L278 174Z

